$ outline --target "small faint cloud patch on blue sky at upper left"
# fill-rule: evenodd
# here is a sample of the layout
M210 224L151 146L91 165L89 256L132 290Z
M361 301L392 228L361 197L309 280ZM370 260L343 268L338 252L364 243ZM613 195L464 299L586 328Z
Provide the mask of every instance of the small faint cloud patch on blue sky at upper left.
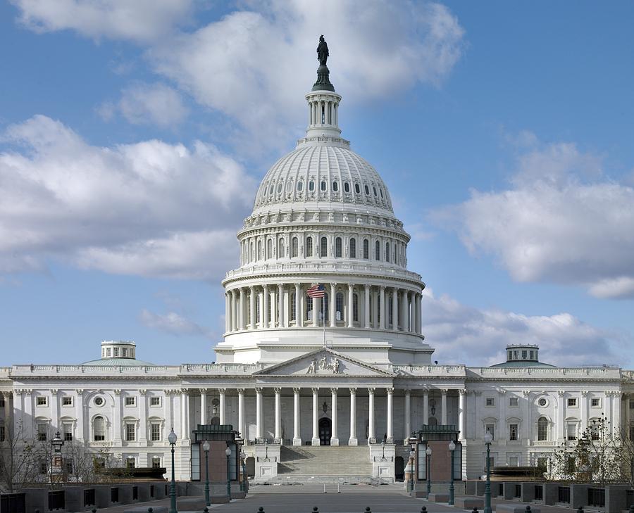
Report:
M187 116L180 94L165 84L133 84L122 91L118 110L135 125L178 125Z

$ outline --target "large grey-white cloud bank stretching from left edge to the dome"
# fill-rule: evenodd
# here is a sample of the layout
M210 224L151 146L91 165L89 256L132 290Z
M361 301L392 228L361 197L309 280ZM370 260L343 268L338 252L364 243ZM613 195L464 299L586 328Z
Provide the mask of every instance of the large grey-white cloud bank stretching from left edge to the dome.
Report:
M161 277L217 279L237 260L235 230L256 182L211 144L99 147L35 116L0 153L0 270L46 258Z

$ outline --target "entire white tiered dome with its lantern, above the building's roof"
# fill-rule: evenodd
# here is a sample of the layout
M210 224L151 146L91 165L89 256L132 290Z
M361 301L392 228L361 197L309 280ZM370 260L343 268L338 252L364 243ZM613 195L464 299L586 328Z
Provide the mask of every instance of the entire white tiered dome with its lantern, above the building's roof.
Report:
M237 234L218 362L274 363L323 345L376 365L430 362L409 234L383 179L342 139L340 101L321 65L306 137L266 173ZM315 284L323 298L307 296Z

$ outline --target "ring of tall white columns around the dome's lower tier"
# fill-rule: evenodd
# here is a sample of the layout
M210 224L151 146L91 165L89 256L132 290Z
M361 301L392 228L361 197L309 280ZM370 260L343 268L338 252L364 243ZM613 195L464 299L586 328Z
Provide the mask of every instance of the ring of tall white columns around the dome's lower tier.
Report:
M306 295L306 289L315 281L229 289L225 293L225 331L323 327L325 317L329 328L380 329L421 335L420 289L368 283L321 283L326 289L325 302Z

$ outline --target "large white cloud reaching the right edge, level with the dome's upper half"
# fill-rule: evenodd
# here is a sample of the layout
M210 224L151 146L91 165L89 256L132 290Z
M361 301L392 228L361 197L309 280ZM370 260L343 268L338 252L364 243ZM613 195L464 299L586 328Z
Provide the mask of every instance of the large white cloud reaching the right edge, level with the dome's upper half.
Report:
M518 281L634 297L634 188L602 177L601 159L574 144L522 154L508 190L472 191L433 217L453 223L471 252L495 255Z

